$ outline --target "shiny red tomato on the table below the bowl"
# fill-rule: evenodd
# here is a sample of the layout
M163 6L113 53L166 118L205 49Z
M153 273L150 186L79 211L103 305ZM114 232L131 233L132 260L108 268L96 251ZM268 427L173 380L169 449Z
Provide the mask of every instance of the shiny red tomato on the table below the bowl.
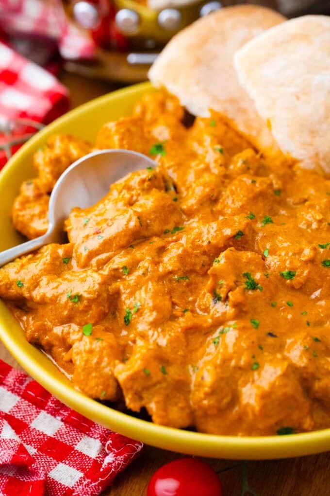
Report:
M180 458L153 474L147 496L222 496L222 484L207 463Z

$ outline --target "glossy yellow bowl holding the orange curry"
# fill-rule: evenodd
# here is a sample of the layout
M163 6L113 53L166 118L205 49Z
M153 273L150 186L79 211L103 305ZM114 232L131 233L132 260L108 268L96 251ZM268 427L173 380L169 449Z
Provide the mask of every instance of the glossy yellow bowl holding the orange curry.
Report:
M0 173L0 250L21 242L10 221L10 209L20 183L35 175L32 155L48 136L71 132L94 140L99 127L127 115L147 91L142 83L97 98L57 119L25 144ZM327 451L330 429L306 434L265 437L209 435L158 426L118 412L88 398L73 388L70 381L37 348L30 345L9 310L0 301L0 338L19 364L48 391L86 417L114 431L160 448L200 456L233 459L270 459L301 456Z

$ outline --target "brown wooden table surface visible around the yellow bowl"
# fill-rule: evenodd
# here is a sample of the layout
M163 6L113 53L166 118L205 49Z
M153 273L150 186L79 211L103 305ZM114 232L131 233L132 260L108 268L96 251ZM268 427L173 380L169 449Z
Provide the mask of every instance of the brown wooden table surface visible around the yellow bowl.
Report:
M68 73L62 74L61 80L71 90L72 107L116 89L114 84ZM18 367L2 343L0 359ZM102 496L145 496L153 472L179 456L145 446L139 458L117 477L113 487ZM240 496L241 463L233 460L207 461L217 472L223 471L220 477L224 496ZM248 474L249 486L258 496L330 496L330 453L286 460L251 461L248 463Z

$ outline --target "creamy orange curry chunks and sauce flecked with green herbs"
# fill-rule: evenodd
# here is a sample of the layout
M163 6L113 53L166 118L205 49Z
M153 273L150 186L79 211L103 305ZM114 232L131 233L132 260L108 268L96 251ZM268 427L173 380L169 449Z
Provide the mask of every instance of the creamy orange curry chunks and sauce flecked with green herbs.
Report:
M157 167L74 209L68 244L0 269L0 297L75 386L158 424L330 427L330 182L266 160L217 115L182 119L155 93L103 126L97 148L137 150ZM52 186L91 147L57 136L37 153L18 230L45 231Z

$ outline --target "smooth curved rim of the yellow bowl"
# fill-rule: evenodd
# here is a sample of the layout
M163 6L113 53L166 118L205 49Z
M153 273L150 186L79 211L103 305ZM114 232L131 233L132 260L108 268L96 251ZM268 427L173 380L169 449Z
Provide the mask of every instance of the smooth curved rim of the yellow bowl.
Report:
M91 100L56 119L52 124L36 133L14 154L0 173L0 184L5 183L7 178L10 178L10 173L14 168L22 167L25 158L37 148L37 145L40 146L41 142L58 125L66 123L72 117L79 118L80 115L84 115L85 112L102 103L115 104L119 97L131 98L133 104L142 93L151 89L152 86L148 82L119 89ZM4 312L3 305L0 308L0 317ZM17 339L15 333L10 332L10 326L5 320L0 318L0 339L17 362L34 379L69 407L120 434L163 449L228 459L287 458L321 453L330 449L330 429L292 435L248 437L197 433L137 419L89 398L74 389L69 382L66 383L64 379L57 378L54 373L45 370L39 364L37 356L38 353L42 352L32 351L32 349L37 350L37 348L26 341L23 331L22 339Z

